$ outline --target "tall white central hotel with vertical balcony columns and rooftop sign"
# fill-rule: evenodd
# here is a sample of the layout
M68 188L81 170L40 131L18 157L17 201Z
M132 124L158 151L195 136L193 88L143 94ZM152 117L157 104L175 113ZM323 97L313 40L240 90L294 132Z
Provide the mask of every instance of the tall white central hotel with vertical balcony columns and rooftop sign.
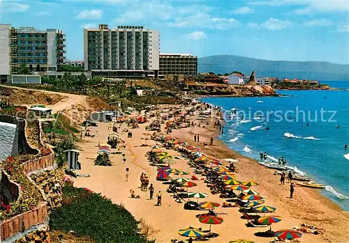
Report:
M159 32L143 26L84 29L84 68L97 75L157 75Z

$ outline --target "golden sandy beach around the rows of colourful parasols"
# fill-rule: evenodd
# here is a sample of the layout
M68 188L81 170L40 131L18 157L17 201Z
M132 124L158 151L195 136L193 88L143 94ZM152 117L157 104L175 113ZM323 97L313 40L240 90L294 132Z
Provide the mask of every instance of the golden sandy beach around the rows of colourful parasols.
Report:
M197 121L198 122L198 121ZM105 143L107 136L112 132L112 123L98 123L98 127L89 127L93 138L84 138L84 143L78 145L82 148L79 160L82 163L82 170L78 173L87 173L89 178L76 178L75 187L87 187L92 191L101 193L107 198L111 198L114 203L123 204L136 219L144 219L152 228L154 233L151 239L156 242L170 242L172 239L186 240L186 237L178 235L179 229L193 226L208 229L209 225L201 224L195 217L200 211L184 210L183 203L176 203L171 194L165 189L168 185L156 180L156 166L149 166L149 162L145 154L150 150L156 141L146 140L149 138L146 134L152 132L146 131L145 127L149 123L140 124L139 128L131 130L132 138L127 137L127 132L120 132L120 139L125 141L126 148L121 148L120 152L126 155L126 163L123 162L121 154L110 155L112 166L94 166L94 157L98 150L98 141ZM119 125L117 125L119 126ZM164 125L162 125L164 126ZM162 127L163 128L163 127ZM126 124L119 127L119 131L129 129ZM193 143L193 134L200 134L200 144ZM254 186L253 190L260 192L265 198L265 205L276 207L273 215L282 217L282 221L272 224L272 230L281 230L285 228L293 228L299 224L311 224L318 228L322 228L319 235L304 234L300 242L348 242L349 237L349 214L332 203L328 198L320 195L315 189L304 187L296 187L294 198L290 199L290 185L279 185L279 176L273 175L274 171L249 159L237 154L225 146L221 141L214 140L214 146L202 146L202 142L209 143L211 136L216 136L216 129L210 124L207 127L188 127L181 130L172 130L172 136L187 141L188 143L200 146L202 151L211 157L217 159L236 158L239 162L235 166L239 169L237 179L241 181L255 180L260 185ZM147 144L148 146L140 146ZM165 148L163 148L165 150ZM171 155L179 156L179 152L168 150ZM179 168L184 171L191 172L193 169L187 165L186 159L174 159L176 164L172 168ZM126 168L128 171L128 181L126 181ZM162 192L162 205L155 206L156 199L149 200L149 192L141 191L140 174L149 175L149 183L153 183L155 192ZM184 176L190 178L191 175ZM200 175L197 175L200 176ZM203 180L195 181L197 187L189 188L189 191L200 191L209 194L205 199L199 201L213 201L223 203L224 198L219 198L219 194L211 194L209 188L206 187ZM135 190L135 194L140 199L130 198L130 190ZM248 228L246 220L240 219L242 214L238 211L239 207L218 207L216 212L226 212L221 215L224 219L223 224L212 226L212 231L218 233L219 236L212 238L209 242L229 242L235 239L248 239L255 242L270 242L272 238L257 237L254 234L265 231L268 228Z

